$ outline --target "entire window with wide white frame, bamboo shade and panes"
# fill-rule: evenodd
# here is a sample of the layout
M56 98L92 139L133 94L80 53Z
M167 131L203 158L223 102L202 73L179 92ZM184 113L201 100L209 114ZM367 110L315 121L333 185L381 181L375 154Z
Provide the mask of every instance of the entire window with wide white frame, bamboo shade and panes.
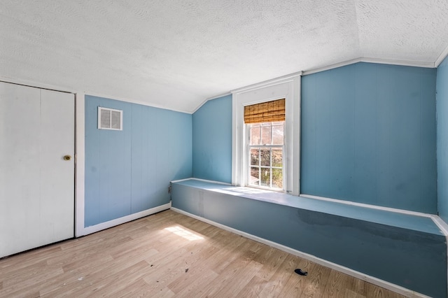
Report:
M233 185L300 193L300 74L232 91ZM282 120L247 121L248 106L279 99L283 99Z

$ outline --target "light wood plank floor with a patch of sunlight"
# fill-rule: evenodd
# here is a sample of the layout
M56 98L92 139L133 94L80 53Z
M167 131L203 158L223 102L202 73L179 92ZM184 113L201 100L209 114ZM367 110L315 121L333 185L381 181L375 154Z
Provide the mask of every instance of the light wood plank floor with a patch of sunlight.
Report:
M402 296L164 211L0 260L0 297Z

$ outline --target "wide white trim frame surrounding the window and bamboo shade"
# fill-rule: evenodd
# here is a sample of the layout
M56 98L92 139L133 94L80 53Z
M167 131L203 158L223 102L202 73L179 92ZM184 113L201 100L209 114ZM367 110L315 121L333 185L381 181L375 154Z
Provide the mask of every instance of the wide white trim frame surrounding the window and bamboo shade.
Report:
M232 184L247 186L248 152L244 106L285 99L284 192L300 194L300 76L293 73L232 91Z

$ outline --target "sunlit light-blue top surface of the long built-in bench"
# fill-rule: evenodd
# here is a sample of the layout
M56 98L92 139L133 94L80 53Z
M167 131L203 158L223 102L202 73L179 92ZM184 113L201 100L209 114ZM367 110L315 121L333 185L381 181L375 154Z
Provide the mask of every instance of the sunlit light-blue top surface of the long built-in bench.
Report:
M323 199L302 196L297 197L284 192L260 190L252 187L239 187L197 179L179 180L174 181L173 183L237 197L244 197L246 199L255 199L272 204L375 222L381 225L390 225L419 232L444 235L432 218L423 215L400 213L396 211L370 208L367 206L356 206L344 202L339 203L339 201L326 201Z

